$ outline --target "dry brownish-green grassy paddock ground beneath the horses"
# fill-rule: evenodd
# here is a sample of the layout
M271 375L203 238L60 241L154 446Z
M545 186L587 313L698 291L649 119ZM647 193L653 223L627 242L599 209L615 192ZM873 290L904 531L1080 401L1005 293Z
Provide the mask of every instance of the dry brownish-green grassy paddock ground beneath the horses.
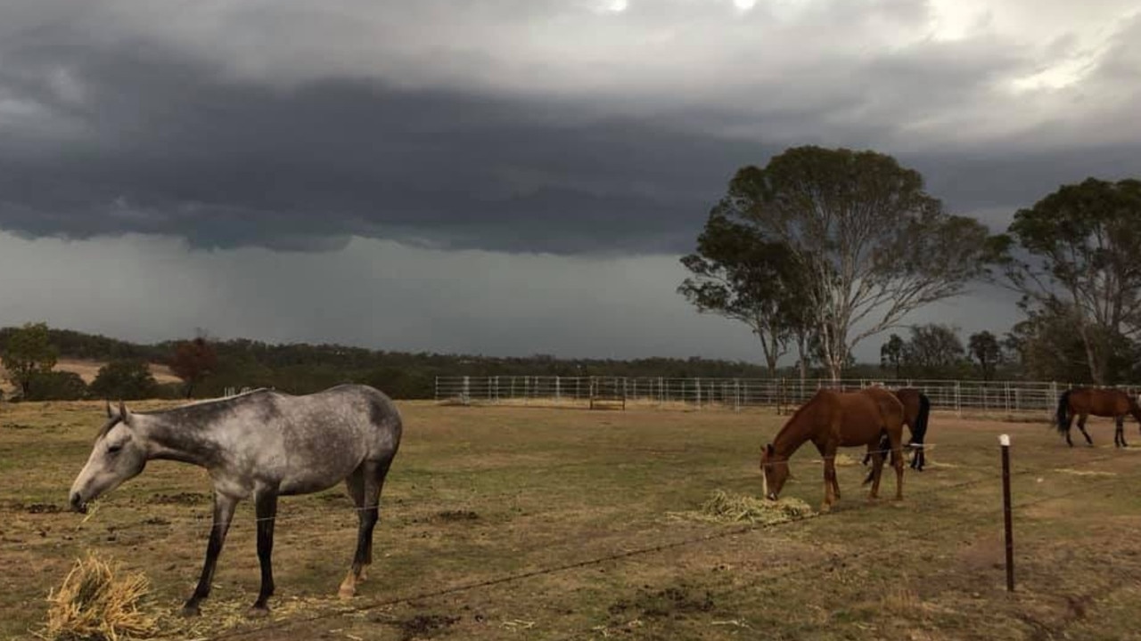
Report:
M148 406L154 406L148 405ZM903 503L868 502L860 453L833 512L761 527L678 518L715 490L759 495L761 411L400 404L377 562L337 586L356 517L340 488L282 501L273 614L258 589L253 510L240 508L203 615L177 615L209 529L205 473L154 462L86 521L66 492L98 404L0 404L0 638L42 626L44 597L94 551L144 571L169 639L1141 639L1141 437L1068 448L1044 422L938 415ZM1005 592L997 436L1013 439L1017 591ZM820 463L784 495L818 506ZM887 474L881 495L895 494Z

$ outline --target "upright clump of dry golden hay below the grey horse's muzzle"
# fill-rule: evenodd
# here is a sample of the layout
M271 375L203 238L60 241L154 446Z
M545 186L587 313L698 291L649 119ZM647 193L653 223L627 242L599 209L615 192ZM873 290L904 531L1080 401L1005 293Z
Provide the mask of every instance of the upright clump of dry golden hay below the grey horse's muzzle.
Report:
M123 573L89 554L58 590L48 594L48 623L39 633L50 641L118 641L151 636L155 618L138 610L149 590L143 573Z

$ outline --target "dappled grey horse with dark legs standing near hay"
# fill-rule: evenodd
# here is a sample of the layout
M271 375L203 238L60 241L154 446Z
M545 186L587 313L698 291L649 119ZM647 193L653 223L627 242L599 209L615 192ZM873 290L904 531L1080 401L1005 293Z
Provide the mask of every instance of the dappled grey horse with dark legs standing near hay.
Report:
M338 386L308 396L260 389L161 412L130 412L122 401L114 409L108 403L107 422L72 485L71 506L86 512L89 502L136 477L147 461L205 468L213 480L213 527L202 575L183 614L199 614L199 602L210 595L234 508L252 496L261 565L261 590L250 610L256 616L268 612L274 593L270 555L277 497L319 492L345 480L361 521L356 555L340 586L347 599L372 563L380 490L402 429L393 401L365 386Z

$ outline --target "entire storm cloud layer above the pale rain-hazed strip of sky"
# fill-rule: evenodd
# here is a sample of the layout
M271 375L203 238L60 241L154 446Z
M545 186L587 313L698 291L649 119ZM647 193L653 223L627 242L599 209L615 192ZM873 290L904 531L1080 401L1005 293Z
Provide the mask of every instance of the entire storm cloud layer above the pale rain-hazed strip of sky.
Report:
M512 66L511 44L520 55L535 47L519 33L577 6L565 2L347 2L345 15L235 3L184 22L130 2L106 5L119 14L88 6L74 15L62 9L70 3L16 5L0 10L0 228L163 234L200 248L330 250L356 235L445 249L677 253L691 248L736 168L793 144L897 153L953 209L986 210L996 226L1060 182L1141 173L1135 137L1103 135L1124 112L1108 124L1046 119L955 144L947 130L956 117L1021 117L994 87L1034 71L1025 49L995 36L885 47L893 36L883 36L872 54L823 55L847 25L869 36L883 31L868 26L879 18L890 23L884 33L916 30L931 9L785 5L808 7L808 17L776 33L777 47L801 38L807 54L784 67L758 54L754 70L743 30L776 14L733 24L728 3L713 17L695 3L632 3L618 18L629 38L685 18L709 51L727 51L672 76L638 49L592 62L592 44L615 40L601 27L566 49L574 55L552 42L553 54L535 54L549 59ZM1091 91L1141 68L1138 39L1127 38L1136 24L1120 30ZM330 44L338 35L343 47ZM544 64L549 73L535 71ZM639 64L645 72L631 72ZM929 116L953 124L914 129Z

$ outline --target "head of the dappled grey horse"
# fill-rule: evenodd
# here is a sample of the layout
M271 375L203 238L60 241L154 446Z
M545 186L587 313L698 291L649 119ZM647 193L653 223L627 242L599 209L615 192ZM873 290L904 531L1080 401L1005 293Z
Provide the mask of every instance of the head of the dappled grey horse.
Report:
M107 422L95 439L87 465L72 484L72 510L86 512L89 502L138 476L146 466L146 446L135 423L135 416L122 401L118 408L107 404Z

